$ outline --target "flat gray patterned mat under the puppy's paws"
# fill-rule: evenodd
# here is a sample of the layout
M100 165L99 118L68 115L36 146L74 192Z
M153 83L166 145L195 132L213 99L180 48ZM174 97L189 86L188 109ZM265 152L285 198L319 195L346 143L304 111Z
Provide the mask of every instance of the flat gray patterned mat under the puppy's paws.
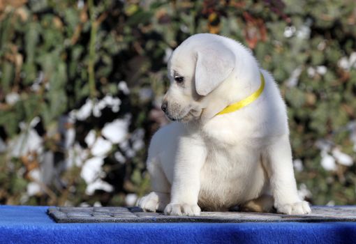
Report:
M124 207L56 207L48 215L58 223L91 222L356 222L356 207L312 207L309 215L276 213L202 212L200 216L166 216L145 213L141 208Z

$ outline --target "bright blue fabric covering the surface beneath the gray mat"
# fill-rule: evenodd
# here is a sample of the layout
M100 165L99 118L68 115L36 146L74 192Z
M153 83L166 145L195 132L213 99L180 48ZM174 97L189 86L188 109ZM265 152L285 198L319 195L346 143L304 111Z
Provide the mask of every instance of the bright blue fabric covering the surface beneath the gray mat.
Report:
M57 224L46 211L0 206L0 243L356 243L355 222Z

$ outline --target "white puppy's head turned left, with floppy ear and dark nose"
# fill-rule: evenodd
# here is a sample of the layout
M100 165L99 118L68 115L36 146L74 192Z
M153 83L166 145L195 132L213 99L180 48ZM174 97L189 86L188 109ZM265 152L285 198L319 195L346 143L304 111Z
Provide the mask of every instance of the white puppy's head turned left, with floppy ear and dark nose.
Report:
M232 72L235 55L223 37L198 34L186 39L170 56L170 88L162 110L173 121L198 120L209 96Z

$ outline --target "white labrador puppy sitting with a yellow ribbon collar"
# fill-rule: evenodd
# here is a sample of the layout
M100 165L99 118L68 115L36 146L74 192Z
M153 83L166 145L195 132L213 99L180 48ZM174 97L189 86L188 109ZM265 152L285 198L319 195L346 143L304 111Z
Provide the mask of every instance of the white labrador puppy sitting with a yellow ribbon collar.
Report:
M311 212L297 195L285 103L248 49L229 38L197 34L175 49L168 72L162 109L176 122L151 139L147 169L153 192L138 206L168 215L233 206Z

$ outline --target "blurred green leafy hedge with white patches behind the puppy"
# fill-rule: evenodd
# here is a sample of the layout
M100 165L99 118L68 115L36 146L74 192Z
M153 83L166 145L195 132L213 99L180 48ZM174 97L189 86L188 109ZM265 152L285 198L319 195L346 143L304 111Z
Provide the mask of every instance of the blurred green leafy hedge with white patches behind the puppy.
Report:
M168 58L205 32L279 83L299 195L356 204L354 0L0 0L0 204L135 204Z

